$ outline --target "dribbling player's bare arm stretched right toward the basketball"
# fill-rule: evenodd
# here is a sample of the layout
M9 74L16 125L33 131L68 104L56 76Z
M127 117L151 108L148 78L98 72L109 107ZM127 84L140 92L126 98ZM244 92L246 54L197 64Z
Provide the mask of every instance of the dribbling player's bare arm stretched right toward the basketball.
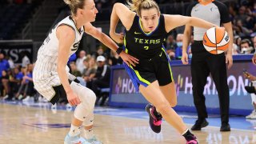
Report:
M178 26L188 25L188 26L196 26L205 29L210 29L213 26L216 26L210 22L206 22L200 18L195 17L187 17L182 15L170 15L164 14L165 23L166 23L166 31L169 32Z

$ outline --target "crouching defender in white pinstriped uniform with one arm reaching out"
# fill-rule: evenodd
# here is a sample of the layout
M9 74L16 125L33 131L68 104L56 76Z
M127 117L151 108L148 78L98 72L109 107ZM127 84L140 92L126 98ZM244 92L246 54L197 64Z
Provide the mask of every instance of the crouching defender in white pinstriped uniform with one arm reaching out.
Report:
M71 54L78 50L82 34L86 32L97 38L112 50L118 46L90 22L94 22L98 10L93 0L64 0L70 6L71 15L54 26L53 30L38 50L38 59L34 66L34 88L52 104L59 98L67 98L74 110L70 132L64 143L101 143L93 135L94 92L80 85L66 66ZM138 59L118 51L127 64L135 65ZM84 128L79 128L83 126Z

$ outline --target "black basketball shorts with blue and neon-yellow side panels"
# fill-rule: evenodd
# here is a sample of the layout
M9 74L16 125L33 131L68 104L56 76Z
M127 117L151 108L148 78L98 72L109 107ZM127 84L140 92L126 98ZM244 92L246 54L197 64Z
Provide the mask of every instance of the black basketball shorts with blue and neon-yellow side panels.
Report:
M129 53L128 53L129 54ZM160 54L153 58L138 58L136 66L127 66L124 63L127 73L130 76L136 90L138 86L149 86L150 83L158 80L160 86L166 86L173 82L173 74L170 69L170 58L166 55L166 50L162 48Z

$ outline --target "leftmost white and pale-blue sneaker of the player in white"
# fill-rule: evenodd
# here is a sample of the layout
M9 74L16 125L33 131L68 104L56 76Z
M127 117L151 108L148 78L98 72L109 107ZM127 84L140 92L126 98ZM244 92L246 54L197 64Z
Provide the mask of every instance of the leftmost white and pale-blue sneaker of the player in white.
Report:
M69 134L66 134L64 139L64 144L90 144L90 142L86 142L85 138L80 138L80 133L71 137Z

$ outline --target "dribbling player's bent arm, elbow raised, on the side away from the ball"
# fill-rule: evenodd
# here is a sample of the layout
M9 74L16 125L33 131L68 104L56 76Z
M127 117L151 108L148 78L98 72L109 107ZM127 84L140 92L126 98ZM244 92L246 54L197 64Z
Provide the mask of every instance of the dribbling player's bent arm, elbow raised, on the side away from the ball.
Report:
M135 13L130 11L127 6L122 3L114 4L110 17L110 37L113 38L115 42L123 42L123 35L115 32L119 19L121 20L122 25L126 27L126 30L130 30L134 16Z

